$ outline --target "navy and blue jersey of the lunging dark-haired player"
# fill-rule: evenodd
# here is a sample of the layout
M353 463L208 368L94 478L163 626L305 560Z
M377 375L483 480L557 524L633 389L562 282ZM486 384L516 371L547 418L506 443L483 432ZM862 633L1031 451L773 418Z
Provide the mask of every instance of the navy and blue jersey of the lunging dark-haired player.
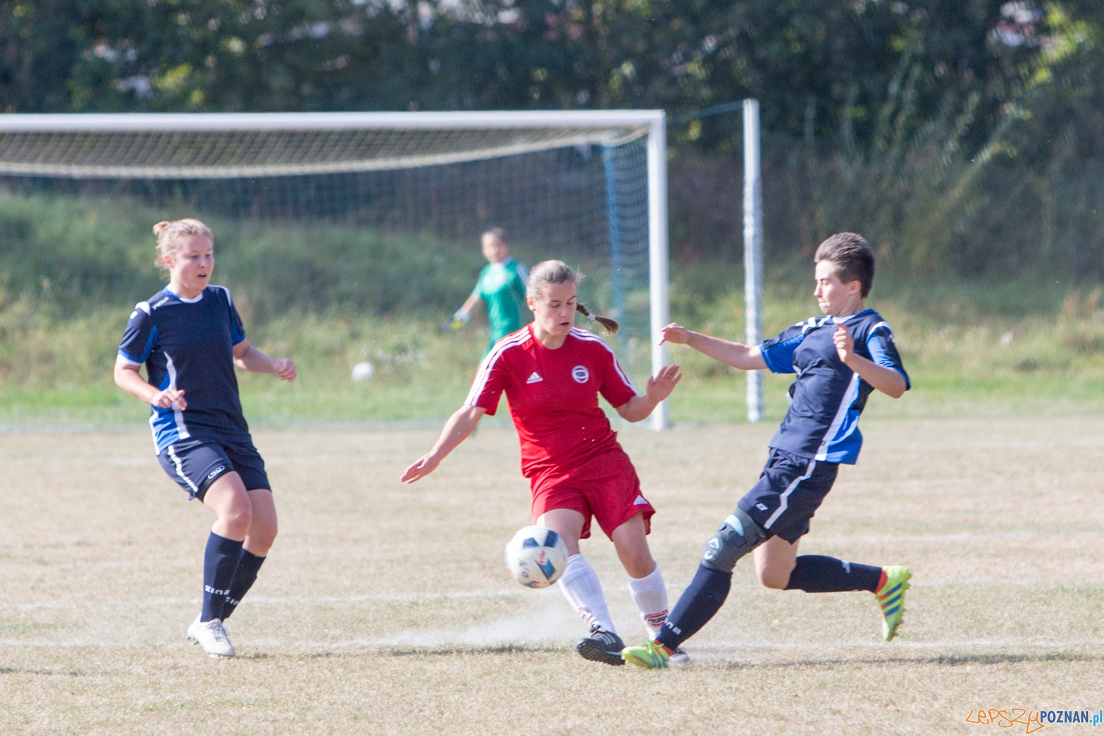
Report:
M798 322L765 341L760 350L772 372L797 374L789 386L789 410L771 438L771 447L803 458L853 465L862 447L859 415L874 387L839 359L832 340L839 323L854 337L856 354L893 369L911 387L893 330L873 309Z

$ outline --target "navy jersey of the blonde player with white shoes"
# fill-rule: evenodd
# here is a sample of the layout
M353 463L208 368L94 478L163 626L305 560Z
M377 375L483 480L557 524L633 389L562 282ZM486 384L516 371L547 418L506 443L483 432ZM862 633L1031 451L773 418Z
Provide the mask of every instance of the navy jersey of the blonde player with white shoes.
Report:
M151 407L149 425L158 455L182 439L232 439L247 435L234 375L234 345L245 340L230 290L209 286L194 299L161 289L130 312L119 356L146 364L160 391L183 390L188 408Z

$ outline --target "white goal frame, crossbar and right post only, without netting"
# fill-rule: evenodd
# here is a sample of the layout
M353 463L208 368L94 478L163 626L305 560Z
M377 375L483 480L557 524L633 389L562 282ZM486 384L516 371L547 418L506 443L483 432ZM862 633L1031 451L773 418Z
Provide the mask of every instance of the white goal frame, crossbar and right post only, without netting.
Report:
M4 132L156 132L250 130L422 129L639 126L648 130L648 292L651 373L667 363L660 331L668 323L667 115L656 110L509 110L453 113L137 113L0 115ZM651 415L654 429L670 424L665 401Z

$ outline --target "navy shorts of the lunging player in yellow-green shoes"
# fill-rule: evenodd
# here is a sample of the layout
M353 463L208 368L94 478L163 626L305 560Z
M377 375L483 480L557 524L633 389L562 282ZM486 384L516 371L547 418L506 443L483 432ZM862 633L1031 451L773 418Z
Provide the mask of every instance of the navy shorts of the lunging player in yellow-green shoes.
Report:
M809 520L836 482L838 462L821 462L771 448L758 482L736 505L790 544L809 532Z

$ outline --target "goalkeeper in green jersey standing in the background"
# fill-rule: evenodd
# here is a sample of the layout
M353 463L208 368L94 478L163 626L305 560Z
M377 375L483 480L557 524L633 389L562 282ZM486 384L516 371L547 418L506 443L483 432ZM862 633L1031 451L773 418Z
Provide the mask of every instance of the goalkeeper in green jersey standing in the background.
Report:
M506 232L493 227L482 234L484 256L489 262L479 271L479 280L471 296L467 298L445 330L458 330L471 319L471 310L479 301L487 302L487 321L490 323L490 342L484 354L490 352L496 342L520 330L529 321L524 319L526 282L529 269L510 257L510 244Z

